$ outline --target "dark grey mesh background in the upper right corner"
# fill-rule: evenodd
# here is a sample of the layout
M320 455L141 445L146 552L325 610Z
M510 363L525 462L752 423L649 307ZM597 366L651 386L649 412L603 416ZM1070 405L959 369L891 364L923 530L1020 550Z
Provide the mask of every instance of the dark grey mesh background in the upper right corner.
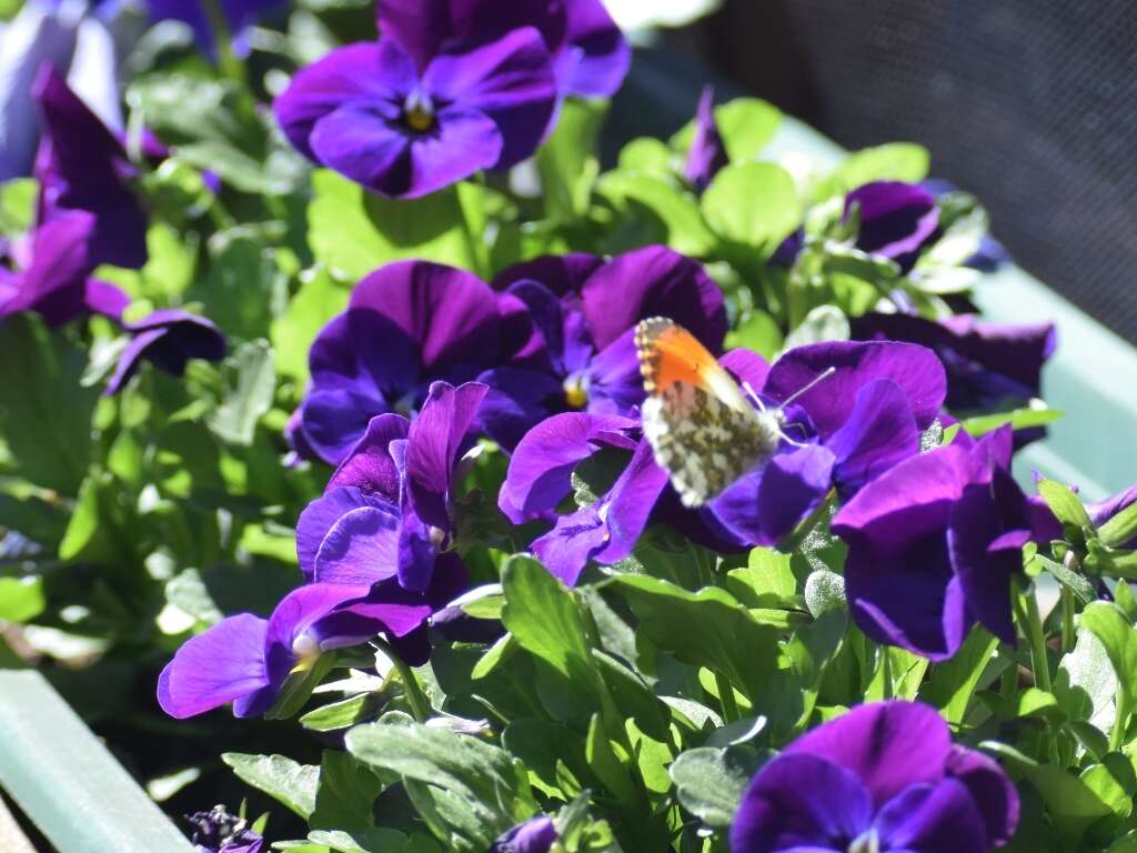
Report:
M1137 0L729 0L699 38L843 146L928 146L1021 266L1137 341Z

